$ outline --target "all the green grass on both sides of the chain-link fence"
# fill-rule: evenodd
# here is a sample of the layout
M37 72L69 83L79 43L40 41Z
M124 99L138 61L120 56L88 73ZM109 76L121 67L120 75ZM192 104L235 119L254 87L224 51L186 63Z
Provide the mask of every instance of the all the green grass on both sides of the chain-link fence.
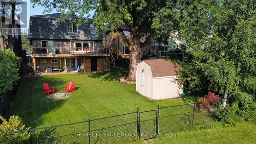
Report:
M135 91L134 84L119 82L122 71L109 73L49 75L43 77L22 77L11 109L12 114L22 117L26 127L47 127L87 121L105 116L140 111L155 110L157 106L184 104L180 99L151 101ZM76 91L65 92L63 87L74 81ZM70 94L66 99L47 98L42 94L42 83L56 87L56 92ZM207 113L196 113L195 126L191 127L192 105L160 109L159 133L179 133L178 137L158 137L148 143L253 143L255 125L241 123L234 127L222 127L212 121ZM180 114L186 113L186 114ZM136 113L122 117L106 118L91 122L93 132L135 132ZM155 111L144 112L141 117L141 132L154 134ZM124 125L122 125L124 124ZM114 127L112 127L114 126ZM77 132L88 131L88 123L79 123L35 131L33 140L38 143L84 143L88 137L77 137ZM56 137L60 140L56 142ZM45 141L47 139L47 141ZM132 143L134 139L113 137L91 137L92 143ZM137 141L142 143L142 141ZM144 143L143 142L143 143Z

